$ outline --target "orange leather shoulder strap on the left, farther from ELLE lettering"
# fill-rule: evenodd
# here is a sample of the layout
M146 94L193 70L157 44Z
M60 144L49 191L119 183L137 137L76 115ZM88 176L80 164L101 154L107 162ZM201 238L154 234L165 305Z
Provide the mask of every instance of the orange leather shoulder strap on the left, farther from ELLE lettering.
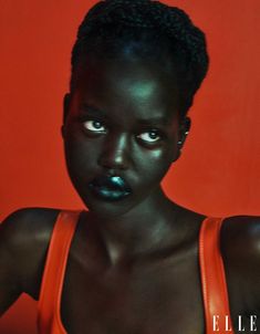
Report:
M72 237L80 211L61 211L58 216L48 250L42 278L38 327L40 334L65 334L60 305L63 279Z

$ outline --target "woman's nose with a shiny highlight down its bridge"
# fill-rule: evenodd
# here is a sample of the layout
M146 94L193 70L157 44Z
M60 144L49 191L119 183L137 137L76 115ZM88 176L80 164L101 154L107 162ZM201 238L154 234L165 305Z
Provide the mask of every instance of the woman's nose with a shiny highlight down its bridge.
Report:
M129 146L126 134L108 136L98 159L100 166L111 170L127 169L131 163Z

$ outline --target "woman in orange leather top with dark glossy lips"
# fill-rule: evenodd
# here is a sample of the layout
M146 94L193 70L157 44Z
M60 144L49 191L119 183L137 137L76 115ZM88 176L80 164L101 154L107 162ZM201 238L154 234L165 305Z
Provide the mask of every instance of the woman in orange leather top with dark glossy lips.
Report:
M257 330L260 219L206 219L160 187L207 67L204 34L179 9L111 0L89 12L62 127L89 211L23 209L1 225L1 313L27 292L44 334Z

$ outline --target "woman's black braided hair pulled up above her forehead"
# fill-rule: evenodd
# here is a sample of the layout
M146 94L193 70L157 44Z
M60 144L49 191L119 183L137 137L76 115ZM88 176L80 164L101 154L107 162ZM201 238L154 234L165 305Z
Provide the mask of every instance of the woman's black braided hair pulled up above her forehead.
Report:
M179 87L179 112L185 116L208 70L205 34L176 7L150 0L98 1L85 15L72 50L71 91L76 70L87 53L97 58L153 59Z

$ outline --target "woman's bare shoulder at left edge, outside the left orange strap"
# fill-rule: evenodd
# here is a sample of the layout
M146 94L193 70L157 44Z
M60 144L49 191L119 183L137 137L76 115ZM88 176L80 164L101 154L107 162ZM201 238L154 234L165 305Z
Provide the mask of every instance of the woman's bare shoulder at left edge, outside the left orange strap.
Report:
M60 210L24 208L0 225L0 255L7 274L14 274L22 292L38 298L45 254Z

